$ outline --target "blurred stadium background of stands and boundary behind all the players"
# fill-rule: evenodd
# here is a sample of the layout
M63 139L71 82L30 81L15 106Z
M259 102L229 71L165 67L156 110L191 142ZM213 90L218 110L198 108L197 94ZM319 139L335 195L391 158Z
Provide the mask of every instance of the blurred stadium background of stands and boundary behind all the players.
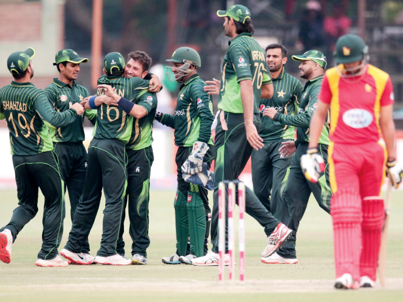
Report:
M403 129L401 0L0 0L0 60L4 62L0 68L0 85L12 80L6 67L9 54L27 47L36 51L32 82L42 89L57 77L52 65L56 51L72 48L81 57L88 57L90 63L81 64L77 82L90 93L95 93L106 53L118 51L125 57L132 50L143 50L153 58L151 71L164 84L158 95L158 108L170 113L175 108L178 86L165 77L165 59L179 46L193 47L201 56L201 78L219 79L229 39L224 35L223 20L216 12L233 4L250 9L254 37L263 48L274 42L288 48L286 70L297 78L298 63L291 60L292 54L319 49L326 54L331 66L331 48L341 34L336 28L340 26L362 36L369 45L370 62L391 76L396 100L394 119L397 128ZM315 35L321 38L315 41ZM304 37L310 36L313 38L309 43L304 41ZM213 102L216 108L217 97ZM87 125L86 143L89 144L92 127L90 123ZM173 133L159 123L154 129L151 187L172 189L176 184ZM400 132L398 136L403 138ZM0 187L13 188L14 170L5 120L0 121L0 141L3 144L0 154L4 159ZM397 149L400 155L403 140L398 141ZM247 183L250 182L249 172L250 165L242 175Z

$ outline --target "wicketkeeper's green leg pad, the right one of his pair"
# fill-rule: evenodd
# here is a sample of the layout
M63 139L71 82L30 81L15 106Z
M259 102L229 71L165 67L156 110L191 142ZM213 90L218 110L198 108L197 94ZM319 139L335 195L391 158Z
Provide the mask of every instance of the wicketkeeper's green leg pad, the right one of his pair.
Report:
M196 257L204 255L206 236L206 210L200 195L187 192L187 214L189 217L190 253Z

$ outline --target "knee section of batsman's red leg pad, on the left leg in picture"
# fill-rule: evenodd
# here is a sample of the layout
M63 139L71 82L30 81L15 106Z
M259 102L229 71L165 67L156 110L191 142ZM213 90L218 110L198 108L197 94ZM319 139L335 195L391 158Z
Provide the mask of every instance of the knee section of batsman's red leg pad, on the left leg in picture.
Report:
M331 197L330 215L333 224L361 222L361 197L352 189L338 190Z

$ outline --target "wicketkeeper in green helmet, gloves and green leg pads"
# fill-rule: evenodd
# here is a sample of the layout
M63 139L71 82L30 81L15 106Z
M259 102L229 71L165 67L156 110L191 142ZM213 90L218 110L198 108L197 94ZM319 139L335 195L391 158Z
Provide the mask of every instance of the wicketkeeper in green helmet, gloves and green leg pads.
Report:
M172 64L165 70L169 80L177 81L181 86L175 115L160 112L156 115L160 123L175 129L175 145L178 146L175 158L178 187L174 199L176 252L162 258L162 262L190 264L192 258L207 253L211 209L207 189L201 184L186 182L182 174L200 173L203 163L210 168L213 159L213 104L204 91L206 83L197 73L201 60L196 50L180 47L166 61Z

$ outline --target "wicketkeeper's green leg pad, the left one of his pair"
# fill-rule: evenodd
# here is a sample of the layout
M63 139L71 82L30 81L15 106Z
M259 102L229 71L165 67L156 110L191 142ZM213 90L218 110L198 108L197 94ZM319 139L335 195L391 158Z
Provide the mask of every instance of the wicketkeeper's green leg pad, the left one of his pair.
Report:
M186 256L187 239L189 237L186 196L182 192L176 191L173 205L175 208L176 249L179 256Z

